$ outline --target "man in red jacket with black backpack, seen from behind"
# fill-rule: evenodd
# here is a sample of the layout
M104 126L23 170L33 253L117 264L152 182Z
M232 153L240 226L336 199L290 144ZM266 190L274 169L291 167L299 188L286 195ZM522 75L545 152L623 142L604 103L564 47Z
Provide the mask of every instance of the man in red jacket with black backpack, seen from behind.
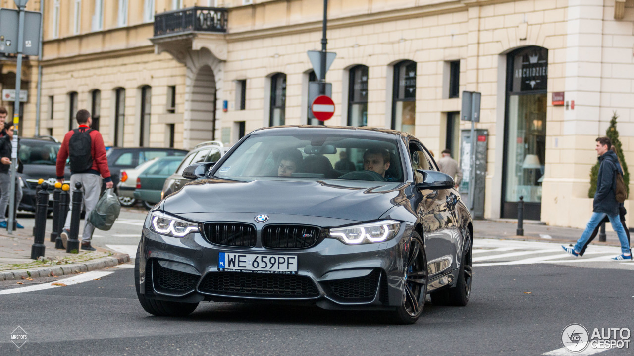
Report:
M63 183L66 159L70 157L70 188L72 190L75 189L75 184L81 182L87 218L99 200L101 177L106 181L106 188L112 188L113 183L112 179L110 179L103 138L99 131L90 128L90 125L93 124L93 118L91 118L88 110L77 111L77 124L79 124L79 127L68 131L66 136L64 136L64 141L61 143L60 152L57 155L57 180ZM70 208L72 210L72 205ZM68 240L71 215L69 211L66 217L66 224L64 224L64 229L60 236L64 246L66 246L66 241ZM90 245L93 231L94 226L86 220L84 223L84 234L82 235L82 250L94 251L93 246Z

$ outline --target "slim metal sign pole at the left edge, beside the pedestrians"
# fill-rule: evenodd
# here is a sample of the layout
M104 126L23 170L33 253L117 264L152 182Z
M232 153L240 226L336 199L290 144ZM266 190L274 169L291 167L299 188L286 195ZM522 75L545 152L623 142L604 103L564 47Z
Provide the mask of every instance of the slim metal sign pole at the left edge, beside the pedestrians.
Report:
M20 125L20 89L22 84L22 49L24 46L24 10L29 0L14 0L20 15L18 17L18 63L15 70L15 101L13 103L13 143L11 144L11 188L9 200L9 221L7 231L13 234L15 222L15 183L18 168L18 128ZM4 213L4 212L2 212Z

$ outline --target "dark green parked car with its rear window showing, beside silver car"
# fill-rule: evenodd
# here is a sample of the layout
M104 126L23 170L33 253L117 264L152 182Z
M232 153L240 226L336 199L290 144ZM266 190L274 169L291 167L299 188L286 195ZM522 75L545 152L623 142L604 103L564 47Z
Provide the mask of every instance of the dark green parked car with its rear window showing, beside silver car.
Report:
M158 158L150 167L145 168L136 178L134 199L143 201L143 206L151 209L161 200L161 191L165 179L174 174L183 160L183 156L167 156Z

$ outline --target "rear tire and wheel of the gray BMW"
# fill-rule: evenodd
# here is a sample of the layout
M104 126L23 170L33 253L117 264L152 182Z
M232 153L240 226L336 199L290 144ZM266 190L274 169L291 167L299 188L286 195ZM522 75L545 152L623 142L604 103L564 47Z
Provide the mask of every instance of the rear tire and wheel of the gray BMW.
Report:
M465 241L470 241L470 239L470 233L467 231ZM472 244L469 242L469 251L467 251L463 257L456 285L451 288L430 293L432 303L436 305L453 305L456 307L464 307L467 303L469 303L469 296L471 295L471 277L473 271L471 245Z

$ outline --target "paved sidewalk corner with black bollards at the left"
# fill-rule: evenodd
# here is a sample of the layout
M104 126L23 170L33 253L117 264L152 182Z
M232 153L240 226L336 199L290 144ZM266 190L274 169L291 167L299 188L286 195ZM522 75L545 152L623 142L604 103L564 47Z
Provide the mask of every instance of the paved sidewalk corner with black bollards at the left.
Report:
M13 231L12 235L6 229L0 229L0 281L65 276L114 267L130 260L128 255L103 248L67 253L66 250L56 250L55 243L49 240L50 232L46 231L44 258L32 260L30 255L34 238L31 224L25 229Z

